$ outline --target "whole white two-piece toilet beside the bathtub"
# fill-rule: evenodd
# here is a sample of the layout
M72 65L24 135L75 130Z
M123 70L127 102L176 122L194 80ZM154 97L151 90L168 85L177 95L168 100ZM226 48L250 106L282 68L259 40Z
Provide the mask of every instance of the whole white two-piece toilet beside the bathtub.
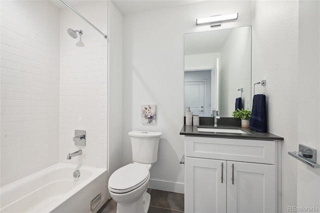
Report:
M150 194L146 192L149 169L156 162L161 132L130 131L132 161L115 170L108 181L109 193L117 202L116 212L147 212Z

